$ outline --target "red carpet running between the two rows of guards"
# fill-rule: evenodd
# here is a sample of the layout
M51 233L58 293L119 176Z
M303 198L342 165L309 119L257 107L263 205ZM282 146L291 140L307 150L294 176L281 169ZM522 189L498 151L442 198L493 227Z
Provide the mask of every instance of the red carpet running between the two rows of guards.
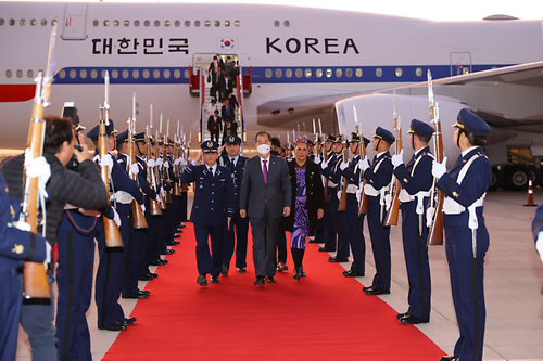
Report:
M195 241L187 223L181 244L148 283L138 321L121 332L103 360L439 360L444 352L396 312L367 296L328 254L308 244L305 279L289 271L256 287L249 241L248 272L197 283ZM290 249L289 249L290 253ZM371 282L372 274L364 281ZM209 280L209 279L207 279Z

